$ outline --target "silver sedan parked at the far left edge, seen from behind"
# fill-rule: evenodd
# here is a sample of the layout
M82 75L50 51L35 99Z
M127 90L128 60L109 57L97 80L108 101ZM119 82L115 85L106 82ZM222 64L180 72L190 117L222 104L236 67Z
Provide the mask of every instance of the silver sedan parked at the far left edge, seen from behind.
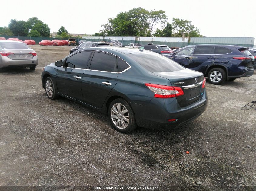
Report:
M0 41L0 68L29 67L35 70L37 64L36 52L25 43L12 40Z

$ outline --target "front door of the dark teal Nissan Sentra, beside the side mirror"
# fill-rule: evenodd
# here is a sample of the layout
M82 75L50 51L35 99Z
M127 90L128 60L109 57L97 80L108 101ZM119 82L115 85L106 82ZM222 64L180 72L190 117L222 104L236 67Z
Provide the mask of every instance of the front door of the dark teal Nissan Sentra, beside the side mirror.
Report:
M83 101L81 81L92 51L83 51L68 57L58 67L56 83L58 92L75 100Z

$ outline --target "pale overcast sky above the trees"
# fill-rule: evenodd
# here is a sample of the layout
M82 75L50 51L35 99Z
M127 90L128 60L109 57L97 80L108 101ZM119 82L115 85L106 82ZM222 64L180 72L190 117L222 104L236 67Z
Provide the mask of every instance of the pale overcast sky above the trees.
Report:
M173 17L190 20L207 37L256 38L255 0L12 0L1 1L0 5L2 27L8 26L11 19L27 21L37 17L49 25L51 32L63 25L68 33L94 34L108 18L142 7L165 10L170 23Z

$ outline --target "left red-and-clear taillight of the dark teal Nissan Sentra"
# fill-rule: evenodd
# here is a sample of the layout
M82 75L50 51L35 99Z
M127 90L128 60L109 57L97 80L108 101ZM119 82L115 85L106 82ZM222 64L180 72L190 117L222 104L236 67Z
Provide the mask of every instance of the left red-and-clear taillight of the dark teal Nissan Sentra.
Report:
M176 86L164 86L164 85L158 85L158 84L148 84L146 83L145 86L147 86L151 91L154 92L154 97L158 98L170 98L170 97L178 97L181 95L184 95L183 90L181 87Z

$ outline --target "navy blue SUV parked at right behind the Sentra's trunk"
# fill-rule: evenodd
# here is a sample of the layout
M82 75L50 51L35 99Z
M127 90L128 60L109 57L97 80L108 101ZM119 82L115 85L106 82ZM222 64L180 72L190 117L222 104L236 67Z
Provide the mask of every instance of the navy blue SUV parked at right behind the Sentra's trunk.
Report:
M251 56L244 52L248 49L233 45L189 45L174 53L171 59L202 72L212 84L222 84L253 75Z

